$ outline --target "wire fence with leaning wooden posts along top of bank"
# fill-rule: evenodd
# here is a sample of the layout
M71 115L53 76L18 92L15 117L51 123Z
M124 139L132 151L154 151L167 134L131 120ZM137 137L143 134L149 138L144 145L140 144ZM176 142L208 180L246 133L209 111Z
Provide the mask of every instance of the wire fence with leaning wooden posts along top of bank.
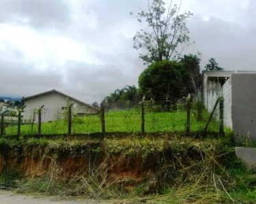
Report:
M212 115L219 106L219 121ZM46 135L46 134L78 134L78 133L167 133L180 132L189 135L191 132L218 131L224 135L223 99L218 98L212 113L205 114L205 120L197 121L197 105L193 95L175 101L126 101L124 103L106 103L102 101L98 114L77 116L72 112L72 104L68 106L65 118L52 122L42 122L42 109L37 109L31 122L22 122L18 111L18 120L5 120L5 112L1 113L0 135ZM37 119L37 120L35 120Z

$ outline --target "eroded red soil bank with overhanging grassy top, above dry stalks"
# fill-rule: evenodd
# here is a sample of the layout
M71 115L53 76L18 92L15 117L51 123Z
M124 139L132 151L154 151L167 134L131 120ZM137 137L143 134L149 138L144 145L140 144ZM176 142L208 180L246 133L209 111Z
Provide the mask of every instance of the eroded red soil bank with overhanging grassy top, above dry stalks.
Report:
M97 169L107 171L109 176L119 180L142 180L162 168L166 168L165 171L178 170L201 162L205 151L221 150L221 147L217 147L221 143L218 140L212 143L189 137L160 136L140 138L130 135L104 140L75 137L4 138L0 141L0 172L9 169L31 177L54 171L61 177L70 177Z

